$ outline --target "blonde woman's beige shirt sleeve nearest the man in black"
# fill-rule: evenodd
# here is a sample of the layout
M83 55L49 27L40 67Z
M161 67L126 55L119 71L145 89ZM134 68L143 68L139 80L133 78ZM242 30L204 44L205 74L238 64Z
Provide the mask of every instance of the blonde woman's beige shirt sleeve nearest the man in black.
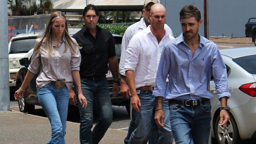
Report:
M76 40L74 38L72 38L72 40L74 42L76 42ZM70 61L70 68L71 68L71 72L73 70L80 70L80 63L81 63L81 54L80 54L80 50L76 45L74 46L74 50L76 51L76 53L72 53L72 57L71 57L71 61Z

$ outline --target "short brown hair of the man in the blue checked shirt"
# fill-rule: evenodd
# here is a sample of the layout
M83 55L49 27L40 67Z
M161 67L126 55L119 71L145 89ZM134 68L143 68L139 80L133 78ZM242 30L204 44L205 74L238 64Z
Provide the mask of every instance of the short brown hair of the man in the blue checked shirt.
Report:
M182 18L190 18L195 17L197 22L201 19L201 13L196 6L190 4L188 6L184 6L180 11L180 19Z

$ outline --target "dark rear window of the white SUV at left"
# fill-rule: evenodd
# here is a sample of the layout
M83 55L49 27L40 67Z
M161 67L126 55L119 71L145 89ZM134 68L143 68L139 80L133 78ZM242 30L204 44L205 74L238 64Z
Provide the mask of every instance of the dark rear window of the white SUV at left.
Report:
M9 54L27 53L35 45L36 37L17 39L11 42Z

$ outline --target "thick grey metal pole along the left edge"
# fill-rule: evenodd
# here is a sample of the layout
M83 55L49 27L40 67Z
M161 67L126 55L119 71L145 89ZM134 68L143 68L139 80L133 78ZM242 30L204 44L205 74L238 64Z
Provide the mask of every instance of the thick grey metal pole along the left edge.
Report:
M7 0L0 1L0 111L9 111L9 63Z

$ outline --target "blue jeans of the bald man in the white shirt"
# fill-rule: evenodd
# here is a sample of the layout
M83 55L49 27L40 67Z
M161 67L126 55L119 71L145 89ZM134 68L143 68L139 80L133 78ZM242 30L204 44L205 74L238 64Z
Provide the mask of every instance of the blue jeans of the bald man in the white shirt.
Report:
M148 90L140 90L139 99L141 102L140 111L132 110L132 120L128 129L127 137L124 143L129 144L172 144L173 135L171 134L171 126L169 122L169 106L168 102L163 104L166 120L165 128L157 127L154 121L155 97ZM169 129L169 130L167 130Z

